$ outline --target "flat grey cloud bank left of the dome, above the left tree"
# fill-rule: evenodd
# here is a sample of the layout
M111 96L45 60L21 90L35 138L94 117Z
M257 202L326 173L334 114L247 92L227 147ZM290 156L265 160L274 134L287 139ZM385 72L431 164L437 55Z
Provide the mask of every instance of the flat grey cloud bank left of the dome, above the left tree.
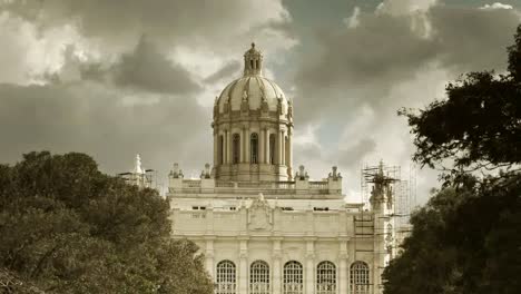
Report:
M200 119L210 117L206 109L194 99L157 96L156 101L136 104L129 95L85 81L0 85L2 161L31 150L75 150L116 173L130 169L135 154L141 153L147 168L165 175L175 160L189 166L209 160L203 147L212 146L209 121ZM197 163L186 157L193 151L200 153Z

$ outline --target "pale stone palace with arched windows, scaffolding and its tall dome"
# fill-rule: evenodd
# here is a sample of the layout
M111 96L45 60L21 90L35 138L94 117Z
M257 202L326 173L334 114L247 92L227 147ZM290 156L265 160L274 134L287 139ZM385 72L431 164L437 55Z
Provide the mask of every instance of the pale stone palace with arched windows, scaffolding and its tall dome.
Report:
M218 294L381 293L394 253L393 189L382 166L371 209L346 203L333 167L321 180L293 168L293 102L263 76L252 45L244 75L215 100L214 166L169 174L175 238L201 248Z

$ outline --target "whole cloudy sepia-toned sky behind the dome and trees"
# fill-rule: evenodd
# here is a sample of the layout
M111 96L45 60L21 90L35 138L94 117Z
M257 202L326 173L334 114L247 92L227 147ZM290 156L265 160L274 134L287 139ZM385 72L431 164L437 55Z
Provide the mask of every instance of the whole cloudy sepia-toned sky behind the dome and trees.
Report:
M401 166L416 204L438 171L414 167L402 107L444 99L462 74L507 67L521 0L0 0L0 163L87 153L102 171L140 154L158 183L212 163L214 99L254 41L294 100L294 166ZM412 171L411 171L412 170Z

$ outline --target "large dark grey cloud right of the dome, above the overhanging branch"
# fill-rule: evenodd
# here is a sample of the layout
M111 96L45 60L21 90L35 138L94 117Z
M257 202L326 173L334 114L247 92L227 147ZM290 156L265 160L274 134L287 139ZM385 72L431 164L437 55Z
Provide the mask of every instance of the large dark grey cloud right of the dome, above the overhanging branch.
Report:
M432 67L454 77L469 70L504 70L505 47L519 22L517 11L503 9L434 6L425 14L361 13L358 27L321 33L316 40L322 50L301 57L297 97L306 100L296 115L313 119L330 105L397 108L396 99L386 100L390 90Z

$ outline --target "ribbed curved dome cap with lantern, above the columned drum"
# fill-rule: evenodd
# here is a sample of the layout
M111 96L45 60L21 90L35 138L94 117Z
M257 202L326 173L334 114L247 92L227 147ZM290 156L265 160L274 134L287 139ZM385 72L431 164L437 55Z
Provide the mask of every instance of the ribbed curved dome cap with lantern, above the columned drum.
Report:
M245 52L244 61L243 77L226 86L217 98L218 112L246 110L242 108L243 102L247 102L249 110L259 110L265 101L265 110L277 111L281 104L282 114L287 115L291 102L277 84L263 77L263 56L255 49L255 43Z

